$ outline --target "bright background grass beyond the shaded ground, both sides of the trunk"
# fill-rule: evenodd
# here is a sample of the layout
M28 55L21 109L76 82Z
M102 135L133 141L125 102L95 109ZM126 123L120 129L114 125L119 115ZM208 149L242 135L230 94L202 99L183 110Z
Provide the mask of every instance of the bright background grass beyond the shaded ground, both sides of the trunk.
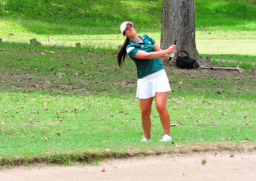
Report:
M196 47L200 54L204 57L227 55L228 61L233 60L229 59L232 58L228 57L230 54L252 56L252 60L243 59L234 64L220 64L218 61L212 61L212 64L239 64L243 69L255 69L256 6L252 6L252 3L234 0L195 1ZM160 44L162 1L159 0L98 0L86 3L2 0L0 4L0 37L3 41L28 43L29 39L36 38L44 45L74 47L80 42L83 47L90 49L116 51L124 42L119 30L120 22L132 20L138 34L150 34Z

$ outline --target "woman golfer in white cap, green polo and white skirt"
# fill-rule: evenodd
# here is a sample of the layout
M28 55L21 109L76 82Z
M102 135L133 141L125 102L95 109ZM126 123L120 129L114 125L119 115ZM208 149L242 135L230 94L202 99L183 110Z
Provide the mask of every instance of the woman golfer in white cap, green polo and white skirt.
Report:
M150 114L153 98L155 98L157 112L164 129L164 136L160 141L172 141L170 136L170 115L166 108L168 92L171 89L159 57L171 54L176 49L176 46L172 45L166 50L162 50L150 36L138 36L132 22L123 22L120 25L120 29L127 38L118 53L118 64L121 67L125 56L128 54L137 67L136 96L140 98L141 122L144 132L144 138L141 141L150 140Z

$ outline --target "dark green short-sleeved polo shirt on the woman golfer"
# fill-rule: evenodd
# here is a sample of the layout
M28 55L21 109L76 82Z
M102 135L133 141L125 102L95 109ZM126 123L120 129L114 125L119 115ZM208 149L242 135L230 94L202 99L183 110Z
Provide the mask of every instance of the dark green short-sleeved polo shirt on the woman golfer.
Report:
M156 41L154 41L149 35L143 35L139 37L141 38L143 43L130 40L129 45L127 45L126 47L126 52L136 64L138 78L143 78L156 71L164 69L164 67L159 58L148 60L135 58L135 55L138 53L139 50L143 50L148 53L155 51L154 44L156 43Z

